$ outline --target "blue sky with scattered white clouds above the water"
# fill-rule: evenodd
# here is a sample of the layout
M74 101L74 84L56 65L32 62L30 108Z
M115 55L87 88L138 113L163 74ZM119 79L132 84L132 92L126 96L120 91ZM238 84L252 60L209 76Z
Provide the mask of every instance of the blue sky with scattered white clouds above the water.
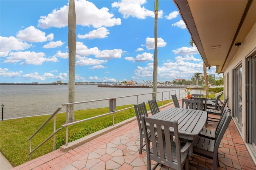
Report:
M152 80L154 1L76 0L76 82ZM158 81L203 72L172 0L159 1ZM68 82L68 0L0 0L0 82ZM215 73L215 67L207 70Z

